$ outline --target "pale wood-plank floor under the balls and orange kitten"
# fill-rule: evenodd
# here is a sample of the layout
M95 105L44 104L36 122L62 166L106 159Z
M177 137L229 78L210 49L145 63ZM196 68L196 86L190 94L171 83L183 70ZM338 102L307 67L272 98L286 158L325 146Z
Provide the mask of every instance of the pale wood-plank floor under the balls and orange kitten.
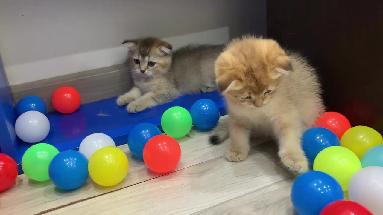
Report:
M128 155L129 173L117 186L100 187L89 179L64 192L20 175L0 194L0 214L295 214L294 178L281 168L273 143L255 143L247 160L230 163L223 156L227 142L210 146L209 133L194 130L188 136L179 141L182 158L173 173L153 174L125 144L120 148Z

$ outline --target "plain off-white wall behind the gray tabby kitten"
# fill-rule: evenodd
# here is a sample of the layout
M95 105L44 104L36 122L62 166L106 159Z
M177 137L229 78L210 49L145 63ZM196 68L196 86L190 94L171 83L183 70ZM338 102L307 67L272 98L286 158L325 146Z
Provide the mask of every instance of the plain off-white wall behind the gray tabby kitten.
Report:
M16 85L119 64L124 39L265 34L265 10L265 0L0 0L0 54Z

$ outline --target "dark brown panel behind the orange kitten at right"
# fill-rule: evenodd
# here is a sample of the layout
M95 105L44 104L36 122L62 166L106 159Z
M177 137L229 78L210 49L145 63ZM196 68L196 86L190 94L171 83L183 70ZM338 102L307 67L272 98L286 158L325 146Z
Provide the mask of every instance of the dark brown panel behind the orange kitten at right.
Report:
M267 35L317 69L326 106L383 133L383 3L267 1Z

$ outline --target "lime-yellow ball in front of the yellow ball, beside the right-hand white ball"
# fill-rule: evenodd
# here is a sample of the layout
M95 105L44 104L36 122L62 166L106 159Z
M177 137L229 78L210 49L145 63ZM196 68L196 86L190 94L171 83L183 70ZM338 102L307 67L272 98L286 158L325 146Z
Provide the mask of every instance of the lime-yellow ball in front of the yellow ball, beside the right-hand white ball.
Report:
M362 168L358 156L341 146L327 147L314 160L314 170L332 176L347 191L351 177Z

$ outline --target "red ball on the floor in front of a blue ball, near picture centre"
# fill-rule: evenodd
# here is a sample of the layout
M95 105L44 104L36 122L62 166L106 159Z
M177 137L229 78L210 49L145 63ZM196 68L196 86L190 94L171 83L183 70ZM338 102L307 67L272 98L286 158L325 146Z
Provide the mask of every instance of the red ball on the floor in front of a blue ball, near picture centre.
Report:
M155 173L169 173L181 159L181 147L177 140L160 134L146 143L142 153L146 166Z

